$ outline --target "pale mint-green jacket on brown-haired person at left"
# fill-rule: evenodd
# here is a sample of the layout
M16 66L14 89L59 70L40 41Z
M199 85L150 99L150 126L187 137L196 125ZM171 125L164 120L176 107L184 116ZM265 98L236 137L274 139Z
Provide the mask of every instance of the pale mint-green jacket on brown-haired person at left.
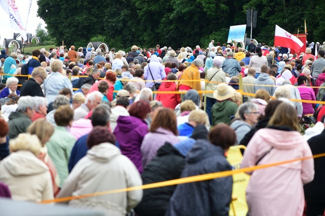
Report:
M62 188L66 177L69 175L68 162L75 142L76 138L65 127L57 126L49 142L46 143L49 157L59 174L60 188Z

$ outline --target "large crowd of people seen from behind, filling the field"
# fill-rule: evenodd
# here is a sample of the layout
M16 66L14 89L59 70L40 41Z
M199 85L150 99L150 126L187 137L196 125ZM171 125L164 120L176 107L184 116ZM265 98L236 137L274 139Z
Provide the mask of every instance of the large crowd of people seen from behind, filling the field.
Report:
M325 101L325 42L306 53L211 40L194 50L1 50L0 59L0 197L37 202L231 170L234 145L246 147L242 167L325 152L325 106L311 101ZM237 91L240 74L249 94ZM315 126L302 135L304 117ZM247 214L323 215L324 162L247 173ZM227 216L232 186L228 176L65 204L107 216Z

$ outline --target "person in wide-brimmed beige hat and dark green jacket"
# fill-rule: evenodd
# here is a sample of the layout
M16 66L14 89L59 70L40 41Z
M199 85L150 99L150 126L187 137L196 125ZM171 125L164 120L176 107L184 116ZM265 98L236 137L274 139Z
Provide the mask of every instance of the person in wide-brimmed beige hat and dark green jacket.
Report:
M238 109L238 105L231 100L235 91L233 87L226 83L220 83L217 90L214 91L213 98L215 98L217 102L211 109L212 126L219 123L230 125L230 116L234 116Z

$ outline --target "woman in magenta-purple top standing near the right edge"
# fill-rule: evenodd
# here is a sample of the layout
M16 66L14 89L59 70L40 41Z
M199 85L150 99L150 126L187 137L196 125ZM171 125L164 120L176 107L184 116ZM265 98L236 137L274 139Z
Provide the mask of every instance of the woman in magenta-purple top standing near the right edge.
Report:
M298 90L300 92L301 100L316 100L315 93L312 88L307 88L307 77L306 76L298 76ZM314 103L302 103L303 112L302 115L312 115L314 114Z

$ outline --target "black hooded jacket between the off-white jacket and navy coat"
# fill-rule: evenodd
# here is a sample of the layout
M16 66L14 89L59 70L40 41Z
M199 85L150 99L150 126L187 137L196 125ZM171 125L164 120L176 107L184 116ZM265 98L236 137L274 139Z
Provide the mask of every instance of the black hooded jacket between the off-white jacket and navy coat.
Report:
M184 166L185 158L171 144L165 143L143 171L143 184L178 179ZM135 212L139 216L164 216L175 188L176 185L144 190Z

